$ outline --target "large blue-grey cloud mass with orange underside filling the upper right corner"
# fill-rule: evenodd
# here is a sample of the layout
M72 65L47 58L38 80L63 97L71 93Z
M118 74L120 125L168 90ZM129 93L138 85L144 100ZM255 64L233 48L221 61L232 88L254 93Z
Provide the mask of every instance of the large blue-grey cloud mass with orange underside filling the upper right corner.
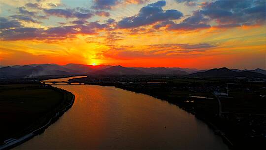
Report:
M177 0L191 2L192 0ZM266 20L266 3L262 0L216 0L202 4L202 9L176 24L162 22L155 29L167 26L168 30L199 30L210 28L208 24L214 20L215 28L233 28L241 25L263 24Z

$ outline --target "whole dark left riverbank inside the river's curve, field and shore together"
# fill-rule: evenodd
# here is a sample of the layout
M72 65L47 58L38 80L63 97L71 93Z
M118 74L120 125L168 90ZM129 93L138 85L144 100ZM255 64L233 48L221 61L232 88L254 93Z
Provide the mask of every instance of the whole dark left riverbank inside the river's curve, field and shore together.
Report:
M39 83L0 84L0 150L41 134L74 103L63 89Z

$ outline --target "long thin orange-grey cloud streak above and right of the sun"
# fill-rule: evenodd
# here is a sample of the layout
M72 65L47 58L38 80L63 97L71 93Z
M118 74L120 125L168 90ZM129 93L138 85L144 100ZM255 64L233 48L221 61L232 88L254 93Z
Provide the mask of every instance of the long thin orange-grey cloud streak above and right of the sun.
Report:
M144 47L109 45L110 49L99 55L114 59L138 59L157 57L178 57L200 55L217 45L208 43L199 44L155 44Z

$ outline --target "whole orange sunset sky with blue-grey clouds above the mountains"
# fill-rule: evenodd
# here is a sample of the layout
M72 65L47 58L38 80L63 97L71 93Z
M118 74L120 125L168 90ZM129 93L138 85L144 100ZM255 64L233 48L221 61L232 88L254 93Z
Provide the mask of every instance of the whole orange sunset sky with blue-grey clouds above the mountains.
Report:
M0 0L0 65L266 69L265 0Z

